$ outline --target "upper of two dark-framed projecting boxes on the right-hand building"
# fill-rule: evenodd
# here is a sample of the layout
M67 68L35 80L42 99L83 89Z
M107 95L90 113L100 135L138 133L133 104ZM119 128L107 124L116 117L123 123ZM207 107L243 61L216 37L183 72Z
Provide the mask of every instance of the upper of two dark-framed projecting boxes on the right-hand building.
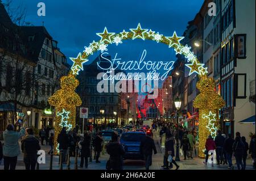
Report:
M246 35L236 35L236 57L246 58Z

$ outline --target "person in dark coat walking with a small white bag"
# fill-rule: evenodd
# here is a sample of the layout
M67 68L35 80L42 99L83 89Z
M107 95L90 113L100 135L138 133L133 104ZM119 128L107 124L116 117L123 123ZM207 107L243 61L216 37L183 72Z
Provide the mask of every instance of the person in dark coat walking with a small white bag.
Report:
M176 169L179 169L179 165L175 162L175 153L174 153L174 145L175 145L175 138L171 133L167 134L166 142L164 144L165 146L165 153L164 153L164 169L172 168L172 164L176 166ZM168 166L168 157L169 155L172 156L172 162L170 163L170 166Z

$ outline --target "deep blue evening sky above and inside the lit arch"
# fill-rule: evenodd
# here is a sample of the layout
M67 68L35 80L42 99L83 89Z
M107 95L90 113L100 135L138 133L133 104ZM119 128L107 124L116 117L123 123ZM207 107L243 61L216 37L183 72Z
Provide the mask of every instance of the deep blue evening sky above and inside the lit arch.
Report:
M3 1L3 3L5 0ZM46 4L46 16L38 16L38 3ZM59 42L60 50L68 57L76 57L104 27L109 32L129 31L141 23L142 28L152 29L164 36L172 36L174 31L182 36L187 23L195 18L203 0L15 0L27 9L26 22L47 28L53 39ZM123 44L109 45L108 52L122 60L138 60L143 50L147 50L145 60L175 61L175 51L156 41L126 40ZM98 53L89 58L94 60ZM69 62L71 64L71 62Z

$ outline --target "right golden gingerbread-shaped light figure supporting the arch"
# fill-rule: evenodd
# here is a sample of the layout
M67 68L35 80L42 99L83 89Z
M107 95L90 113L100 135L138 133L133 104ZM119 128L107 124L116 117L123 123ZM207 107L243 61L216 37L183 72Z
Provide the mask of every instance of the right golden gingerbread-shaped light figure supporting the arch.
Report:
M225 106L225 101L214 91L213 78L201 76L196 87L200 94L196 96L193 106L199 109L199 157L204 158L205 141L209 135L216 136L220 128L218 110Z

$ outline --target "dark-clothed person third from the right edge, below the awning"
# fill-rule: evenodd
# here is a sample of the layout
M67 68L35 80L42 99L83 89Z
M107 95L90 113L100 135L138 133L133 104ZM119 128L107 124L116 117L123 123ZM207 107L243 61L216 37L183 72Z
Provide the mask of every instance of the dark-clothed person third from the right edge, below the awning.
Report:
M234 153L234 156L236 157L237 169L238 170L240 170L240 169L243 170L242 159L243 159L243 154L245 153L245 145L241 141L241 137L240 136L237 136L235 138L235 142L233 144L233 153Z

